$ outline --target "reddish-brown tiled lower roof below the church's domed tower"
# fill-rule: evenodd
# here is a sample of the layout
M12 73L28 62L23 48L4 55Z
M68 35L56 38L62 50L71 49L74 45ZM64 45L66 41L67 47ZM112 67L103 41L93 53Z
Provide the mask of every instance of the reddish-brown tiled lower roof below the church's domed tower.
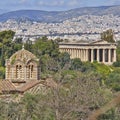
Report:
M47 80L31 80L30 82L25 83L23 86L16 88L14 84L9 80L0 81L0 93L24 93L25 91L35 87L38 84L42 84L46 87L56 88L57 83L52 79Z

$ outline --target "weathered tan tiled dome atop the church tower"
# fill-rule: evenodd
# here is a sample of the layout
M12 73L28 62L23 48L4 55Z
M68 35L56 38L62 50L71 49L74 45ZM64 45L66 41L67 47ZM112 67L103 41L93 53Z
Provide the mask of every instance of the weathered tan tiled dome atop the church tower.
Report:
M14 64L15 61L21 61L23 63L27 63L29 60L38 61L37 57L34 54L28 50L25 50L24 48L14 53L9 60L11 64Z

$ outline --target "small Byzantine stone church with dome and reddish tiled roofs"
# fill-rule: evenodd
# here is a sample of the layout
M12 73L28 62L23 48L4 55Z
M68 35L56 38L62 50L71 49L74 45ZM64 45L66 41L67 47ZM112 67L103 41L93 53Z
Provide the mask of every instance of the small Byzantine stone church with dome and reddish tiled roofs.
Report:
M40 80L39 59L24 46L6 60L5 66L5 80L0 81L0 94L45 92L52 83Z

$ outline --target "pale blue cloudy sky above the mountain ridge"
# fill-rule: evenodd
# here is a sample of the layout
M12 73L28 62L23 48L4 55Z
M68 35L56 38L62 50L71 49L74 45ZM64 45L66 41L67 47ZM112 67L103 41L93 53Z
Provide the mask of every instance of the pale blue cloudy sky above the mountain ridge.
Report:
M0 9L69 10L88 6L120 5L120 0L0 0Z

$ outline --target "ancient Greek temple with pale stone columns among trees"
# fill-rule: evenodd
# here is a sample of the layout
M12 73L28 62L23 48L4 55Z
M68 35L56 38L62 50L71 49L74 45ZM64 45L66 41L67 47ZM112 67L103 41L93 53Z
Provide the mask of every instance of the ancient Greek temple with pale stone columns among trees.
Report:
M60 52L68 52L70 58L80 58L81 61L98 61L111 65L116 62L116 43L99 40L87 43L60 43Z

